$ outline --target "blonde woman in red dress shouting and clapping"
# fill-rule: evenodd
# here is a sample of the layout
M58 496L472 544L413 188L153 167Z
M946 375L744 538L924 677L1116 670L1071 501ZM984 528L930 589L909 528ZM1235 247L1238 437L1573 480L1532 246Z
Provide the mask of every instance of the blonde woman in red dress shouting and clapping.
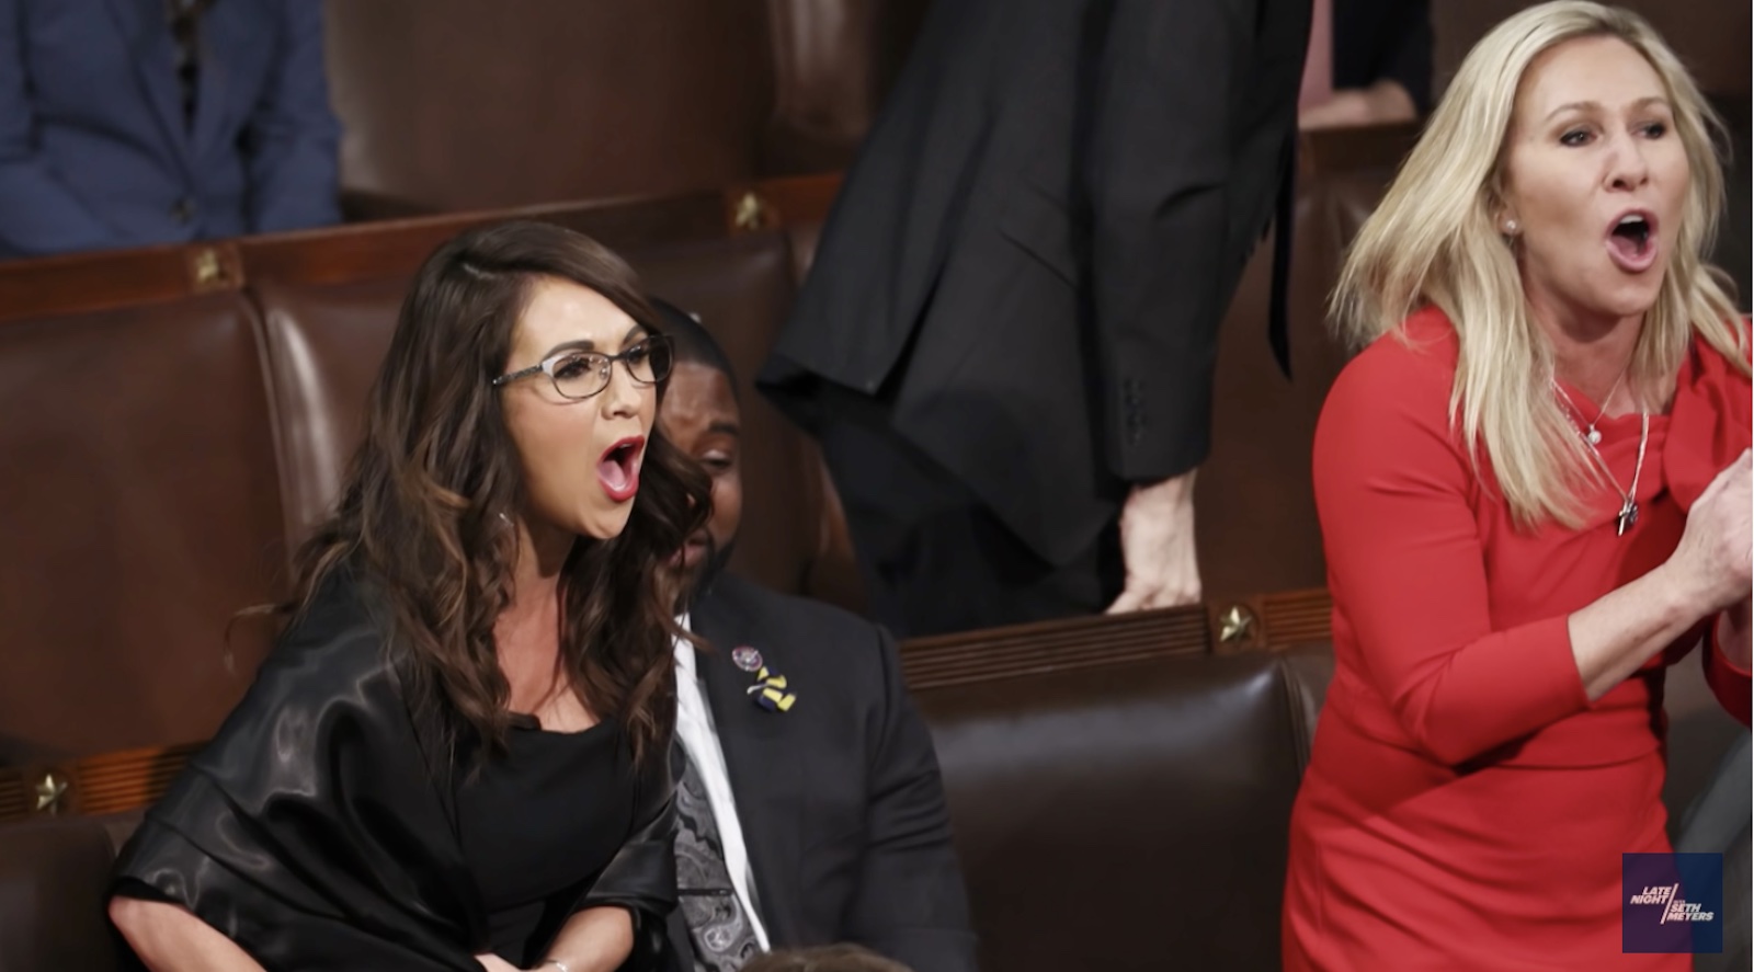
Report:
M1314 479L1335 679L1286 968L1687 970L1621 953L1663 677L1749 719L1749 333L1701 261L1712 119L1636 16L1468 54L1335 297Z

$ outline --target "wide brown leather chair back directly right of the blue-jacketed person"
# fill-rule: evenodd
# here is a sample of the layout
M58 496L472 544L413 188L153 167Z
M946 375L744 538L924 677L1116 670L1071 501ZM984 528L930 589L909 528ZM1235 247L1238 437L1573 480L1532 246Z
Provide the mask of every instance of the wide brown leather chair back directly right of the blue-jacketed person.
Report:
M349 188L454 211L758 174L758 0L332 0L326 16Z

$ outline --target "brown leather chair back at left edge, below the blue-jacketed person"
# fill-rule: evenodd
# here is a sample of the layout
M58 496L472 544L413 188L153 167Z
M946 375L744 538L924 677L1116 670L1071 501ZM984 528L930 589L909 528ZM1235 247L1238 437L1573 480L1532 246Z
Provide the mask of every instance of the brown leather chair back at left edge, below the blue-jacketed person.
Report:
M203 739L260 660L281 491L237 293L0 325L0 765Z

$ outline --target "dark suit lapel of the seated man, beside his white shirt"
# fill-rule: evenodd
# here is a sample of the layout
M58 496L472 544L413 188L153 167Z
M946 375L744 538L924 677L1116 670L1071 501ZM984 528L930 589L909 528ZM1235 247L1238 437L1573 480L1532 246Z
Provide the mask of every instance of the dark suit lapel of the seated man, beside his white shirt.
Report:
M768 712L751 702L745 690L754 684L754 675L737 668L731 649L756 647L781 672L784 672L782 660L774 658L761 642L761 632L756 630L747 605L735 597L735 582L716 584L712 593L695 605L693 626L695 633L712 646L712 651L696 654L700 681L731 777L737 816L761 904L761 921L770 942L775 946L793 942L798 940L796 925L802 911L796 900L802 847L796 828L782 825L788 814L777 812L775 802L800 784L803 761L796 733L786 732L788 716Z

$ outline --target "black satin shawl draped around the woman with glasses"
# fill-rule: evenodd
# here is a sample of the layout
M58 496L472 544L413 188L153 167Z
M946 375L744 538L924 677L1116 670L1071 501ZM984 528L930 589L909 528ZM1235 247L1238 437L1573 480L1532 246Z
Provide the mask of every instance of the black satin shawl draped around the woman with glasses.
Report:
M467 767L410 716L379 616L347 572L324 584L147 811L116 893L181 904L268 972L481 972L488 912L454 812ZM574 907L631 911L630 972L656 967L675 907L667 749L640 770L633 832Z

